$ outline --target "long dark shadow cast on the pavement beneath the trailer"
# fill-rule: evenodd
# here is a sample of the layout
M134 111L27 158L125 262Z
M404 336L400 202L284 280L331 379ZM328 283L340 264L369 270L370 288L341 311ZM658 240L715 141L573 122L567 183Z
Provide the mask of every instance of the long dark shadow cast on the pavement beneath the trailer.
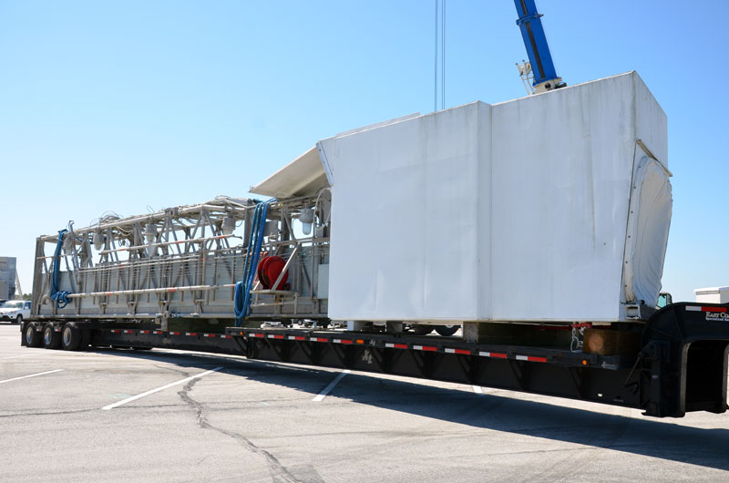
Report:
M162 350L137 352L94 349L93 352L165 361L200 369L223 365L225 368L222 373L240 375L245 379L269 385L282 385L313 396L333 379L333 370L247 360L227 355L172 353ZM334 373L338 372L334 369ZM486 394L477 395L457 389L455 385L450 389L416 381L408 381L406 377L390 379L356 373L348 375L334 389L333 396L358 404L493 431L729 470L727 427L682 426L677 424L681 419L636 418L601 413L603 407L613 410L611 406L594 404L594 410L586 410L505 396L508 391L498 391L498 395L488 394L489 389L485 388ZM568 403L569 400L564 401ZM725 424L728 420L726 416L710 416L716 417L717 424Z

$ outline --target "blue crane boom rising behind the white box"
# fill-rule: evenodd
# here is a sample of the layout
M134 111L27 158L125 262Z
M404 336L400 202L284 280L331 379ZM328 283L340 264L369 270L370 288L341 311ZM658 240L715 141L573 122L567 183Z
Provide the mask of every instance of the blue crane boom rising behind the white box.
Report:
M541 14L537 12L537 5L534 0L514 0L519 18L517 25L521 29L521 36L524 38L524 46L527 47L529 63L534 74L532 86L537 92L544 92L558 87L564 87L561 77L552 62L547 45L547 36L544 35L544 27L541 25Z

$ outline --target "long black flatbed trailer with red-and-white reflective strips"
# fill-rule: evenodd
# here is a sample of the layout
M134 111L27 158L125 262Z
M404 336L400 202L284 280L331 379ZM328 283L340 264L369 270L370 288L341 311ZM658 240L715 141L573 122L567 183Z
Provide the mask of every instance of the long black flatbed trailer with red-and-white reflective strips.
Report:
M22 344L49 349L171 348L338 367L560 396L682 417L727 409L729 304L674 303L642 328L634 354L533 345L472 344L455 336L355 333L305 327L160 330L113 321L28 321Z

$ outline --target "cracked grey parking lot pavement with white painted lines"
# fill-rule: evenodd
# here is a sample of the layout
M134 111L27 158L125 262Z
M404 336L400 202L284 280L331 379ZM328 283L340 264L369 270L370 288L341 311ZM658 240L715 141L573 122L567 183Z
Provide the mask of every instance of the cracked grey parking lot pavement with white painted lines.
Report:
M0 481L727 481L729 414L636 410L173 350L21 347Z

